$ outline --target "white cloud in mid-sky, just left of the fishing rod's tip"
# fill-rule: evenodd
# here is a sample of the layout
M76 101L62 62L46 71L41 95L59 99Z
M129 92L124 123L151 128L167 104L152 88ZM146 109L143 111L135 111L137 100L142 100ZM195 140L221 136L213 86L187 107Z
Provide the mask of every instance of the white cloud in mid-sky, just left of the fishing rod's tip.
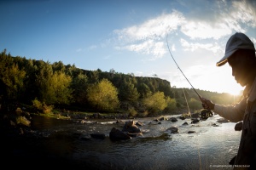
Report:
M116 49L128 49L141 54L148 54L151 59L158 59L166 54L166 45L163 38L169 31L177 30L183 23L183 15L177 11L172 14L161 14L152 20L145 21L142 25L131 26L123 30L115 30L119 42L125 42Z

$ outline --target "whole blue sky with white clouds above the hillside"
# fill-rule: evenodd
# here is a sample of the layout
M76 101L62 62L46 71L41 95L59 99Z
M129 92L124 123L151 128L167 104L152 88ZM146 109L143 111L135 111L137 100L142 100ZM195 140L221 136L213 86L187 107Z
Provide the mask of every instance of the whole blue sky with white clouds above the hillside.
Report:
M0 23L12 56L217 93L243 89L230 65L216 66L230 36L256 47L254 0L2 0Z

